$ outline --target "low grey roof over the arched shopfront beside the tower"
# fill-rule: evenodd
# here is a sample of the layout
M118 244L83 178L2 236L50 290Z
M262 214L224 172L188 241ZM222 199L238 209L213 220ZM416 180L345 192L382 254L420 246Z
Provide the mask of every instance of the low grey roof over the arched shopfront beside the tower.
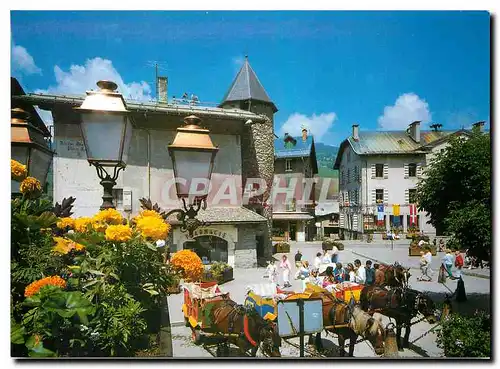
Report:
M164 209L168 212L172 209ZM198 220L207 223L261 223L267 222L267 219L256 212L244 208L242 206L234 207L212 207L207 206L206 210L200 210ZM178 224L176 214L172 215L168 219L169 223Z

